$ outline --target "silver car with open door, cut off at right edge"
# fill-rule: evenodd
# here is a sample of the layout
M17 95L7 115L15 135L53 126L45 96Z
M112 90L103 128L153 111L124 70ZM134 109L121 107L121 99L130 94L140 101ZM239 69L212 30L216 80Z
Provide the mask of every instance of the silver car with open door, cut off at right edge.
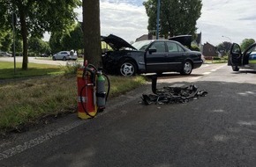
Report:
M233 71L239 69L256 69L256 43L245 49L242 53L241 47L237 43L233 43L230 48L228 65Z

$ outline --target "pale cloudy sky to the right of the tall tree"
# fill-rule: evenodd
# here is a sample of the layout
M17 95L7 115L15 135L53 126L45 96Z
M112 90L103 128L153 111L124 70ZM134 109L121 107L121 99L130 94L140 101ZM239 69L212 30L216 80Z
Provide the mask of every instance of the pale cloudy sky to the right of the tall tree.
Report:
M202 41L217 45L222 41L241 43L256 40L255 0L202 0L202 14L197 22ZM225 37L222 37L225 36Z

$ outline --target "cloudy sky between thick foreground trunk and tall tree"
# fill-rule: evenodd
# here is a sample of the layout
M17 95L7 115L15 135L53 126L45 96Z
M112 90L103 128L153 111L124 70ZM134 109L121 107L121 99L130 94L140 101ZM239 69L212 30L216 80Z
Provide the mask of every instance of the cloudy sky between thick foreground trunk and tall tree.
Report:
M139 5L140 4L140 5ZM133 0L101 0L102 35L115 34L124 40L135 41L147 33L147 14L141 3ZM76 10L82 21L82 9Z

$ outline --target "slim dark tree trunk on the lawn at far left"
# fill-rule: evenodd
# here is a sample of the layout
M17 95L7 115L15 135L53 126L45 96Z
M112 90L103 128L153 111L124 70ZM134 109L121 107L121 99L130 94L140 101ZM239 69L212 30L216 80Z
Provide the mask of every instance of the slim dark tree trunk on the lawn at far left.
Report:
M21 36L23 41L23 62L22 69L27 69L27 28L26 28L26 15L22 6L19 6L20 14L20 26L21 26Z

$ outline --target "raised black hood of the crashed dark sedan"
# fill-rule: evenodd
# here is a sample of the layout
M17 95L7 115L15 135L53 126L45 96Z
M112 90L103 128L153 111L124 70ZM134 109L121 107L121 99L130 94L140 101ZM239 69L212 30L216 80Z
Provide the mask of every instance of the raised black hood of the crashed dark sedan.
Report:
M132 47L131 44L129 44L125 40L123 40L120 37L117 37L116 35L113 35L113 34L110 34L107 37L102 36L102 41L109 44L109 46L112 47L114 50L119 50L120 48L124 48L124 47L129 47L129 48L137 50L135 47Z

